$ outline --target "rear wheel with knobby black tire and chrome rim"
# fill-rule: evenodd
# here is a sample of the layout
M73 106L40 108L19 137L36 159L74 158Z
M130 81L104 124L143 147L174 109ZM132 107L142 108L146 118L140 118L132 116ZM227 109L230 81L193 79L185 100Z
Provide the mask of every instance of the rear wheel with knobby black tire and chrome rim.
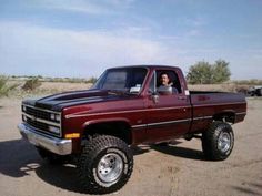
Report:
M204 156L212 161L228 158L234 146L232 127L224 122L213 122L202 135Z

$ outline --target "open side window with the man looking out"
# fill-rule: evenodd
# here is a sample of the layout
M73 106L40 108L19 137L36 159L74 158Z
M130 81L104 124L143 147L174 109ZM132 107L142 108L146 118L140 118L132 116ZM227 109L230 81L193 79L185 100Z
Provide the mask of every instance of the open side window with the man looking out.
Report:
M157 90L160 95L181 93L181 84L174 71L157 71Z

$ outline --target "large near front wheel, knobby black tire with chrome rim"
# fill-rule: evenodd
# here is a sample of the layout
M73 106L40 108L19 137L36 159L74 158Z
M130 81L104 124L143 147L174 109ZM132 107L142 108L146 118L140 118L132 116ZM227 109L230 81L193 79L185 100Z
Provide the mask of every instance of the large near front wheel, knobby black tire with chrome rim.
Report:
M130 178L133 155L127 143L109 135L87 141L78 163L83 192L108 194L120 189Z

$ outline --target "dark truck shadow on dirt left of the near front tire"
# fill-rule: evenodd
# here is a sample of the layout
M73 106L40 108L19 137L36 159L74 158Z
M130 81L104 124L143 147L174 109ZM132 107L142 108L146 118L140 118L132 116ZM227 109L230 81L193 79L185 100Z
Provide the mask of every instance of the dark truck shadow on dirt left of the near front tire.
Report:
M48 164L38 155L37 149L23 140L0 142L1 175L21 178L33 173L50 185L81 193L75 166Z

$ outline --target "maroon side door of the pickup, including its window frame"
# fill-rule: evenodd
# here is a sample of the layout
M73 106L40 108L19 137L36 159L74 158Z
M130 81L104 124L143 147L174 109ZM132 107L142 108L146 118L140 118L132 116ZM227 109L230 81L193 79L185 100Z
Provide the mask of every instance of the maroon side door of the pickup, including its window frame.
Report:
M161 84L161 76L169 85ZM179 74L182 74L181 72ZM147 96L147 141L160 142L185 134L191 124L191 105L174 70L155 70Z

